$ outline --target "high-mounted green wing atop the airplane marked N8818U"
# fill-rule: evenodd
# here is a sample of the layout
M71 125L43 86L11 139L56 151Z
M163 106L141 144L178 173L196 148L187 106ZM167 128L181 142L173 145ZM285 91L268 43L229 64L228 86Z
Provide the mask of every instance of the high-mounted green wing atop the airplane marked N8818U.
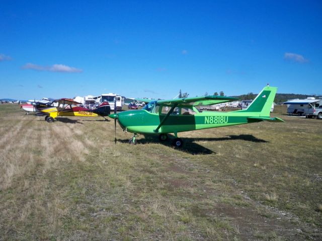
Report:
M173 100L150 100L150 99L135 99L138 101L142 101L145 103L149 103L151 101L157 101L158 104L165 105L189 105L189 106L206 106L206 105L215 105L220 103L226 103L231 101L240 100L234 97L226 97L226 96L203 96L203 97L187 97Z

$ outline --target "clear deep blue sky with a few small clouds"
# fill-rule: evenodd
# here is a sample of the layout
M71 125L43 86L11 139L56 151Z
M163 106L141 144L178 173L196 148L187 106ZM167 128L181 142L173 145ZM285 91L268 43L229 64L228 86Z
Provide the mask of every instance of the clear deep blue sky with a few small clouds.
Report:
M321 1L2 1L0 99L322 94Z

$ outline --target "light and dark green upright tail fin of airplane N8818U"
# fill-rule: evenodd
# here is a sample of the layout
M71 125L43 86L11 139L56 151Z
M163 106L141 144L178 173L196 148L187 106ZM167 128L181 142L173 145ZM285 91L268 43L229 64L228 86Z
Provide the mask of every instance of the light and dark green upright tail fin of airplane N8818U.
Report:
M276 87L265 87L246 110L238 112L255 112L258 117L269 117L276 91Z

